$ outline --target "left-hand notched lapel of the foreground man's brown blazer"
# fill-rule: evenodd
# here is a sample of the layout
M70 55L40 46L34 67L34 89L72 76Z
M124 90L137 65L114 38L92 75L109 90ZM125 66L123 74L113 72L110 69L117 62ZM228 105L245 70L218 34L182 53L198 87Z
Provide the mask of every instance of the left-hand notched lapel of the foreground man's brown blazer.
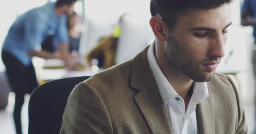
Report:
M153 134L171 134L171 124L147 61L147 46L132 60L131 87L139 90L135 101Z

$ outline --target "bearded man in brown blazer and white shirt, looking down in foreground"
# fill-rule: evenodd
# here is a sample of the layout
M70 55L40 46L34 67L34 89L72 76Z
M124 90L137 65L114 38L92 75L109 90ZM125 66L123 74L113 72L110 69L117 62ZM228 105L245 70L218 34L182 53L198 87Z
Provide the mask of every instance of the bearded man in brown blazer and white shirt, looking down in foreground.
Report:
M155 42L81 82L61 134L246 134L241 98L215 73L232 0L151 0Z

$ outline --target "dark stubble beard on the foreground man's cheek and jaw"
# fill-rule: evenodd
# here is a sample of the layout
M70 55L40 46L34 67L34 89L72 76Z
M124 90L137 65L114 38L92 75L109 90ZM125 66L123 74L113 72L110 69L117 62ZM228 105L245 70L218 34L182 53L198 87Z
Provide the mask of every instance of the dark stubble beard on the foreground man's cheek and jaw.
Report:
M215 76L215 70L209 73L200 70L201 61L193 61L173 37L169 36L164 50L169 68L174 69L170 72L177 77L189 77L196 82L207 82Z

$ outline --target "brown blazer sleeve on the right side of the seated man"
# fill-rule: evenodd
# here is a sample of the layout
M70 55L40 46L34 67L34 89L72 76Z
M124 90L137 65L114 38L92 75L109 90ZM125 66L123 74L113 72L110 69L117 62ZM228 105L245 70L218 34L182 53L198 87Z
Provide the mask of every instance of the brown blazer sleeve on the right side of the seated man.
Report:
M236 94L236 98L237 98L238 122L237 122L237 128L236 128L235 134L247 134L248 129L247 129L246 121L245 121L245 111L243 109L242 99L240 98L240 93L237 90L237 88L236 88L234 82L231 80L231 78L228 77L228 79L231 82L231 84L235 90L235 94Z

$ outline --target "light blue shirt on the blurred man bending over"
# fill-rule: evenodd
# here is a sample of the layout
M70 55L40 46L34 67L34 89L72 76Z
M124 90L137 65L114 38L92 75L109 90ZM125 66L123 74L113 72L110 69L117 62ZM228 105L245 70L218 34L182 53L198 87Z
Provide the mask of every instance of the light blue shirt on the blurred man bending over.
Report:
M47 3L19 16L14 21L3 43L3 50L13 54L22 64L29 65L28 51L35 51L38 45L54 34L55 43L68 43L67 15L57 16L55 3Z

